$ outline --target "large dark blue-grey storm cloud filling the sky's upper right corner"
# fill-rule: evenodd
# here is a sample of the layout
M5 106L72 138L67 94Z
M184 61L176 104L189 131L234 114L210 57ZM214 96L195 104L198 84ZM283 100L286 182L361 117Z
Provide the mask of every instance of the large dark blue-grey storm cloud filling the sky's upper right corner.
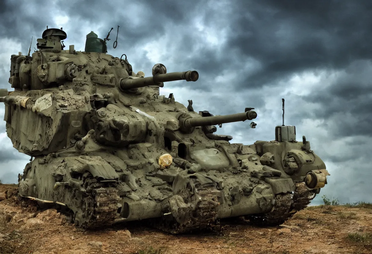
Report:
M371 58L371 14L371 1L244 1L232 16L227 45L253 56L262 69L241 85Z

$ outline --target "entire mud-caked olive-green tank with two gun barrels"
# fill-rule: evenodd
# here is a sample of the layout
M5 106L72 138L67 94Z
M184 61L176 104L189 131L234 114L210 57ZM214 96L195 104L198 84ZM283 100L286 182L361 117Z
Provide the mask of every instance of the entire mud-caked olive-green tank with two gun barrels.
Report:
M91 32L84 52L65 50L65 38L47 27L32 56L31 46L12 55L14 91L0 91L7 135L31 156L21 198L56 206L84 228L147 219L176 234L241 216L282 224L327 183L309 141L284 125L284 100L275 140L231 143L216 126L253 120L254 108L214 116L159 93L164 82L197 81L197 71L167 73L159 63L145 77L126 55L107 54L109 35Z

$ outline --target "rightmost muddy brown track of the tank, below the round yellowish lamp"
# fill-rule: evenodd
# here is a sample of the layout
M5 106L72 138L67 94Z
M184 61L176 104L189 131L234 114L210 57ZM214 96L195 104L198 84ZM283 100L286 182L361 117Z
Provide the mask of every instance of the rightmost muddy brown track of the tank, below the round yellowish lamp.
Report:
M294 193L276 196L275 206L269 213L246 215L244 219L252 225L278 226L291 218L296 212L305 209L315 196L314 192L306 188L304 182L296 183Z

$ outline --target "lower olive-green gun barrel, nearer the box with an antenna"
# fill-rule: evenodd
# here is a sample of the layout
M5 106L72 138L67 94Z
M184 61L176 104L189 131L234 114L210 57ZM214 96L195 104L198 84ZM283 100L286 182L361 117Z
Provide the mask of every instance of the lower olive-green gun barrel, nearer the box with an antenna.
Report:
M210 117L190 117L183 121L183 126L186 128L192 128L196 126L210 126L223 123L233 123L245 120L252 120L257 117L255 111L247 111L244 113L232 114L232 115L216 115Z

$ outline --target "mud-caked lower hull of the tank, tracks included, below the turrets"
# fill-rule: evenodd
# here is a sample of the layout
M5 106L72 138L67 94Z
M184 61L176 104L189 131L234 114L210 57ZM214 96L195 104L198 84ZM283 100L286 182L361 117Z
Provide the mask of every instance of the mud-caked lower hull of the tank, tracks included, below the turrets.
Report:
M250 147L271 149L275 153L270 144L279 144L266 142L260 146L262 143L258 141ZM298 146L286 145L291 151ZM303 180L298 181L304 176L293 180L284 172L261 164L262 156L249 146L245 152L234 154L247 157L237 169L224 167L224 163L229 164L228 159L219 153L211 156L203 151L199 155L209 163L208 169L177 166L159 169L129 159L130 154L144 147L151 151L155 148L153 144L134 145L129 153L127 149L110 147L94 149L96 146L89 138L88 152L84 154L67 149L36 157L20 178L20 196L35 199L41 206L63 208L69 211L76 225L84 228L154 219L153 226L177 234L214 227L218 219L238 216L245 216L253 224L280 225L304 209L316 195ZM212 149L215 151L218 150ZM197 155L194 159L199 160ZM217 164L211 166L209 160L218 161L219 166L213 169ZM317 159L311 165L323 167L324 163Z

